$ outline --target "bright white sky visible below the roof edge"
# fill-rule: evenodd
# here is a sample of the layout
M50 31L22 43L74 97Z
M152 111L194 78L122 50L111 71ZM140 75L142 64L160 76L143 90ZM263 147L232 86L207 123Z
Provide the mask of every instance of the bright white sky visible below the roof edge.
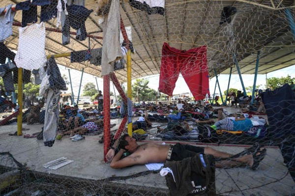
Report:
M68 68L65 69L64 66L59 65L59 70L60 70L61 75L65 74L68 77L68 75L69 75ZM74 96L78 96L79 85L80 85L82 72L71 69L70 73L71 73ZM288 74L292 78L293 77L295 78L295 65L284 68L284 69L281 69L281 70L278 70L278 71L275 71L275 72L257 75L256 85L261 84L262 86L260 88L265 89L266 77L267 78L286 77ZM144 78L148 79L149 88L152 88L152 89L155 89L155 90L158 89L159 75L150 75L150 76L146 76ZM243 83L244 83L245 87L253 86L254 74L242 74L242 79L243 79ZM227 87L228 87L229 74L220 74L218 76L218 81L219 81L221 92L223 93L224 91L227 90ZM86 83L88 83L88 82L94 83L95 87L96 87L95 77L93 75L88 74L88 73L84 73L83 74L82 85L81 85L82 87L81 87L80 96L83 94L84 85ZM132 81L132 83L133 82L134 82L134 80ZM212 79L209 80L209 88L210 88L210 94L211 95L214 93L215 83L216 83L216 77L213 77ZM102 78L97 77L97 84L98 84L99 90L103 91L103 79ZM127 85L126 83L123 83L123 86L126 87L126 85ZM231 82L230 82L230 88L235 88L235 89L238 89L238 90L242 90L242 85L241 85L241 82L239 80L238 74L232 74ZM97 89L97 87L96 87L96 89ZM110 90L111 90L111 92L114 92L114 87L113 87L112 81L110 82ZM68 85L68 90L66 92L71 93L70 85ZM118 91L116 90L116 88L115 88L115 93L116 93L116 95L118 95ZM189 90L187 84L185 83L183 77L181 76L181 74L179 75L178 80L176 82L176 87L174 89L173 95L177 95L177 94L180 94L180 93L190 93L190 90ZM218 87L216 87L215 93L219 94Z

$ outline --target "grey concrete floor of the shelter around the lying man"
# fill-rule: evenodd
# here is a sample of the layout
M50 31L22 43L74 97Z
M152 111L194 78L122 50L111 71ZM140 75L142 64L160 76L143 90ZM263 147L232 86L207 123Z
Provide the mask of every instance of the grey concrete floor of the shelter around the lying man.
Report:
M237 111L234 108L227 108L231 112ZM230 111L231 110L231 111ZM118 128L121 119L112 119L111 123ZM23 134L32 134L41 131L42 124L27 125L24 128L29 130ZM44 147L43 141L36 138L24 138L23 136L8 136L17 130L16 124L0 126L0 152L9 151L14 158L27 164L29 170L58 174L62 176L72 176L84 179L105 179L114 176L129 176L138 172L148 171L146 166L133 166L125 169L111 169L109 164L103 161L103 144L99 144L102 134L85 136L82 141L71 141L68 137L55 142L53 147ZM166 142L174 144L175 141L143 141L149 143ZM184 142L185 143L185 142ZM185 143L196 145L196 143ZM238 153L247 146L240 145L221 145L198 144L210 146L220 151ZM67 157L74 162L59 168L58 170L46 169L43 164ZM2 157L3 158L3 157ZM5 160L0 160L0 165L9 166ZM216 169L216 192L225 196L289 196L295 192L295 183L292 180L287 168L283 165L283 158L277 147L267 147L267 155L261 162L257 171L252 171L248 167L235 169ZM149 174L148 176L134 177L118 183L128 183L150 187L150 189L162 188L168 190L165 178L159 173Z

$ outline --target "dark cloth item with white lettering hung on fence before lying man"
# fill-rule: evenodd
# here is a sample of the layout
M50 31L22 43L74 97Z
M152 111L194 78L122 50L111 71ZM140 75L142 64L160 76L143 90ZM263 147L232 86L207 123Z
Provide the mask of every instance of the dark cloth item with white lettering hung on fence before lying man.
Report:
M165 175L170 196L196 196L210 194L215 191L215 164L210 154L197 153L193 157L181 161L164 164L173 175Z

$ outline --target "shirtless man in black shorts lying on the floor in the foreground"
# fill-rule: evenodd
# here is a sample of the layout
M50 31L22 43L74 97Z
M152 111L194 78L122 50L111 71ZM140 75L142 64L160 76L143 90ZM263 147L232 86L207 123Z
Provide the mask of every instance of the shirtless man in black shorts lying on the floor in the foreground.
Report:
M117 141L116 141L117 142ZM197 153L211 154L215 158L230 158L233 154L221 152L211 147L196 147L192 145L181 145L177 143L172 145L160 144L142 144L138 145L135 138L124 134L118 139L118 147L120 148L115 155L117 149L116 142L114 146L106 154L110 166L114 169L125 168L133 165L145 165L148 163L164 163L167 161L180 161L188 157L193 157ZM245 149L246 153L229 160L216 161L217 168L232 168L240 165L248 165L251 169L256 170L259 163L266 155L266 148L255 144L253 147ZM123 153L131 153L129 156L122 158ZM171 155L171 156L170 156Z

